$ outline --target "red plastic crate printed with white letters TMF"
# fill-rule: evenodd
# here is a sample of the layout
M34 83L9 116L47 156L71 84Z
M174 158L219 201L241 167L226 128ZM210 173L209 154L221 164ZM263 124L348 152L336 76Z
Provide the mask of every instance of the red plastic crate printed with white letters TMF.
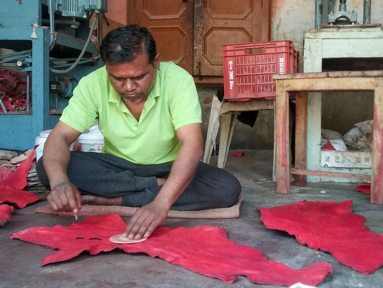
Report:
M222 48L224 98L228 101L275 98L273 74L297 73L299 69L299 53L290 40Z

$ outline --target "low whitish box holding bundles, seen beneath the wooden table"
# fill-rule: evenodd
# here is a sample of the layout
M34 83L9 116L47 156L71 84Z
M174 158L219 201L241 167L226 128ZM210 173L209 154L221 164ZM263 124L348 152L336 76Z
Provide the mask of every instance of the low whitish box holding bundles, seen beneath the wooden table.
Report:
M371 168L371 152L321 150L320 166Z

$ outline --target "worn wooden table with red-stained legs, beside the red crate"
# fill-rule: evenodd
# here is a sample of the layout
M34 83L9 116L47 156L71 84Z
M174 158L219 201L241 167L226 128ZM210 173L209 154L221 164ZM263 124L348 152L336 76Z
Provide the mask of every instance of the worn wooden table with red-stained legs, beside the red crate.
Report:
M290 193L290 174L305 185L306 175L371 180L371 203L383 204L383 71L333 71L275 74L277 193ZM307 169L307 116L309 92L372 91L374 125L371 175ZM296 97L295 167L290 169L289 99ZM319 95L313 93L312 95ZM319 122L320 123L320 122ZM310 154L309 154L310 155ZM318 164L319 165L319 164Z

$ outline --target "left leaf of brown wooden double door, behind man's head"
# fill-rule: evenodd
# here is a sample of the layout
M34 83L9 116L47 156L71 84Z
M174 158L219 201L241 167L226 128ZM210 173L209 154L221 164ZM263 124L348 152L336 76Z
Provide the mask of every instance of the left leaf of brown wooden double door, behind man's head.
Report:
M161 61L193 73L193 0L130 0L127 13L128 24L150 29Z

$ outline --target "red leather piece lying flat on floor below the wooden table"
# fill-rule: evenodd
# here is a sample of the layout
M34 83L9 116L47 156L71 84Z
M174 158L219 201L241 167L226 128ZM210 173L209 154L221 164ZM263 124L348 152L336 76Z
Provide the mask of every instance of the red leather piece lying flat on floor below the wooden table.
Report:
M383 235L369 231L366 218L353 214L351 200L300 201L259 210L267 228L286 231L302 245L327 251L358 272L371 274L383 265Z

